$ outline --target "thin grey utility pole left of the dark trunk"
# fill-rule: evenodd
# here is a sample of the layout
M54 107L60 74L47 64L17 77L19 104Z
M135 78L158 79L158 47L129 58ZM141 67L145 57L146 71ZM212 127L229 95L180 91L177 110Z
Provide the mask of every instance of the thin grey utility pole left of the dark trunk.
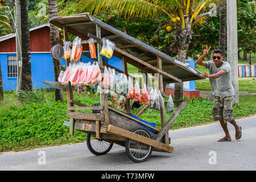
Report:
M20 24L20 0L15 0L15 33L16 33L16 59L17 59L17 86L19 92L22 82L22 55L21 55L21 24Z

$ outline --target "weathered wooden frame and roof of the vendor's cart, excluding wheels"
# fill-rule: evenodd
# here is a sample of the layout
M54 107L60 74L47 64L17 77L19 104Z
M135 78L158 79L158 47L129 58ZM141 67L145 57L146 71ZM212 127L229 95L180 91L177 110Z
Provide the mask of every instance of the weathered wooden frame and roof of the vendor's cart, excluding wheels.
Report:
M72 20L70 22L70 20ZM60 23L64 22L64 23ZM64 34L64 41L68 41L68 32L80 36L82 38L82 43L88 43L88 38L94 39L94 43L97 44L97 53L98 53L98 60L94 59L94 61L98 61L101 72L103 72L104 67L114 68L111 65L103 63L102 56L99 53L102 47L102 31L101 27L104 30L108 30L112 32L113 35L105 36L105 38L113 39L120 38L122 36L123 40L129 40L133 44L130 45L122 45L116 46L114 49L114 56L119 57L122 59L123 71L115 68L116 73L124 73L127 77L131 77L134 79L133 76L129 75L127 72L127 63L134 65L135 67L141 69L144 73L159 73L158 76L158 83L160 93L163 97L168 97L168 94L164 92L164 85L168 82L181 82L187 80L196 80L204 78L201 73L191 69L190 67L184 66L183 64L179 64L180 62L174 60L172 57L165 55L164 53L157 51L156 49L147 46L146 44L139 42L138 40L132 38L129 35L124 34L116 30L115 28L101 22L100 20L90 16L88 13L79 14L79 15L72 15L72 16L61 16L55 19L50 20L50 23L54 24L55 26L63 29ZM82 34L81 28L79 26L86 26L90 25L90 29L92 30L92 26L95 26L94 31L96 35L91 34ZM80 28L80 29L79 29ZM61 42L56 40L56 42ZM153 53L156 55L156 60L152 61L144 61L139 59L137 56L132 55L131 53L125 51L125 48L131 47L139 47L139 48L146 48L148 52ZM82 55L89 57L86 53L82 53ZM163 60L168 62L168 64L163 65ZM171 60L171 61L170 61ZM69 59L65 60L66 66L69 65ZM156 65L154 65L156 64ZM163 68L168 68L168 71L171 68L182 68L181 70L185 70L186 73L192 73L193 77L187 76L186 78L178 78L170 74L170 72L166 72ZM192 70L192 71L191 71ZM146 79L148 76L146 75ZM164 78L164 79L163 79ZM145 82L147 82L145 80ZM147 89L150 90L149 85L147 85ZM86 106L79 102L73 100L73 89L71 86L71 82L67 85L67 101L68 101L68 113L67 117L69 121L65 121L64 125L69 127L70 134L73 135L74 130L80 130L90 135L93 135L98 140L105 140L109 143L116 143L121 146L126 146L127 139L135 140L139 143L146 144L152 147L153 151L159 152L173 152L174 147L170 146L170 138L168 136L168 129L171 124L175 121L177 116L180 114L181 110L187 105L188 100L184 100L180 106L177 108L174 114L172 114L171 118L168 119L166 122L165 117L165 110L160 110L161 115L161 123L162 129L156 129L155 127L148 125L140 121L137 118L132 117L131 115L127 114L130 112L130 101L126 98L126 112L114 109L113 107L108 105L108 94L102 93L101 94L101 105L100 106ZM76 105L76 106L75 106ZM141 117L141 115L149 108L149 106L144 106L144 108L138 113L137 117ZM79 113L77 110L98 110L100 113ZM150 137L144 137L138 133L135 133L133 129L142 127L148 127L149 129L154 130L154 132L147 130L146 133L150 135ZM144 128L143 128L144 129ZM144 129L145 130L145 129ZM145 130L146 131L146 130ZM103 154L103 153L102 153ZM144 160L134 160L135 162L143 162Z

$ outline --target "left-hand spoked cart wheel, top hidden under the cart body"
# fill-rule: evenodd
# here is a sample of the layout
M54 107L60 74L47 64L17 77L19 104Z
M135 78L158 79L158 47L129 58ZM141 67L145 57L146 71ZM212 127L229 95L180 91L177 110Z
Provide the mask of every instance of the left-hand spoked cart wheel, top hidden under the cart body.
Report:
M93 139L90 133L87 134L86 144L89 151L94 155L104 155L110 151L113 147L113 143L106 142L104 140Z

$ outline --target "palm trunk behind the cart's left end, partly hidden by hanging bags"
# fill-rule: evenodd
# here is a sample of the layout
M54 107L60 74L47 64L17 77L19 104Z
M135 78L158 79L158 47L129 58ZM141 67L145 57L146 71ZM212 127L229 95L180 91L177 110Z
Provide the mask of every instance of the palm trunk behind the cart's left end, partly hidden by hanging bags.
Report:
M49 2L49 19L56 18L58 15L57 0L48 0ZM51 47L55 46L55 39L60 39L59 28L50 24L50 38ZM54 69L54 80L58 81L60 75L61 60L54 59L52 57L53 69ZM63 92L59 89L55 89L55 101L63 102Z

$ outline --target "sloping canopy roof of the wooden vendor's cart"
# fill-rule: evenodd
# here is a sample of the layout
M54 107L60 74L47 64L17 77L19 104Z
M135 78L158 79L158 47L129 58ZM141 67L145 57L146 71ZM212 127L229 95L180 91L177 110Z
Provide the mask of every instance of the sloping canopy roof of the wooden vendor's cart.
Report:
M125 56L127 63L130 63L147 73L158 73L158 71L156 71L154 68L158 68L158 57L162 58L162 69L167 73L166 75L163 75L164 84L178 82L177 79L180 79L180 81L189 81L204 78L203 75L195 68L189 67L189 65L184 64L181 61L178 61L151 46L148 46L132 36L117 30L109 24L101 22L101 20L94 18L89 13L59 16L51 19L49 22L61 29L63 29L64 26L67 26L69 33L79 36L84 40L89 39L89 33L96 36L97 24L98 27L101 27L101 38L111 40L115 43L117 48L128 53L129 55L132 55L127 56L126 54L114 51L114 56L117 56L120 59L122 59L122 56ZM138 61L134 61L134 57L137 57L143 62L138 63ZM147 67L144 63L150 64L154 68ZM168 75L174 76L177 79L174 79L173 77L171 78Z

